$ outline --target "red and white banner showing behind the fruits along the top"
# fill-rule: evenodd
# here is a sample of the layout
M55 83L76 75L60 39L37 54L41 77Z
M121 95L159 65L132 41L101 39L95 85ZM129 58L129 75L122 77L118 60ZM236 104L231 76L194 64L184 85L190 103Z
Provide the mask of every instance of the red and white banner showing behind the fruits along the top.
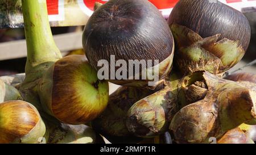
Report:
M65 20L64 13L64 1L65 0L47 0L48 14L50 21L61 21ZM93 14L93 7L95 2L106 3L108 0L76 0L79 6L78 9L81 9L85 15ZM162 12L164 16L170 15L172 8L176 5L179 0L148 0L153 3L158 9ZM216 2L217 0L209 0ZM242 11L246 7L256 7L256 0L219 0L226 5Z

